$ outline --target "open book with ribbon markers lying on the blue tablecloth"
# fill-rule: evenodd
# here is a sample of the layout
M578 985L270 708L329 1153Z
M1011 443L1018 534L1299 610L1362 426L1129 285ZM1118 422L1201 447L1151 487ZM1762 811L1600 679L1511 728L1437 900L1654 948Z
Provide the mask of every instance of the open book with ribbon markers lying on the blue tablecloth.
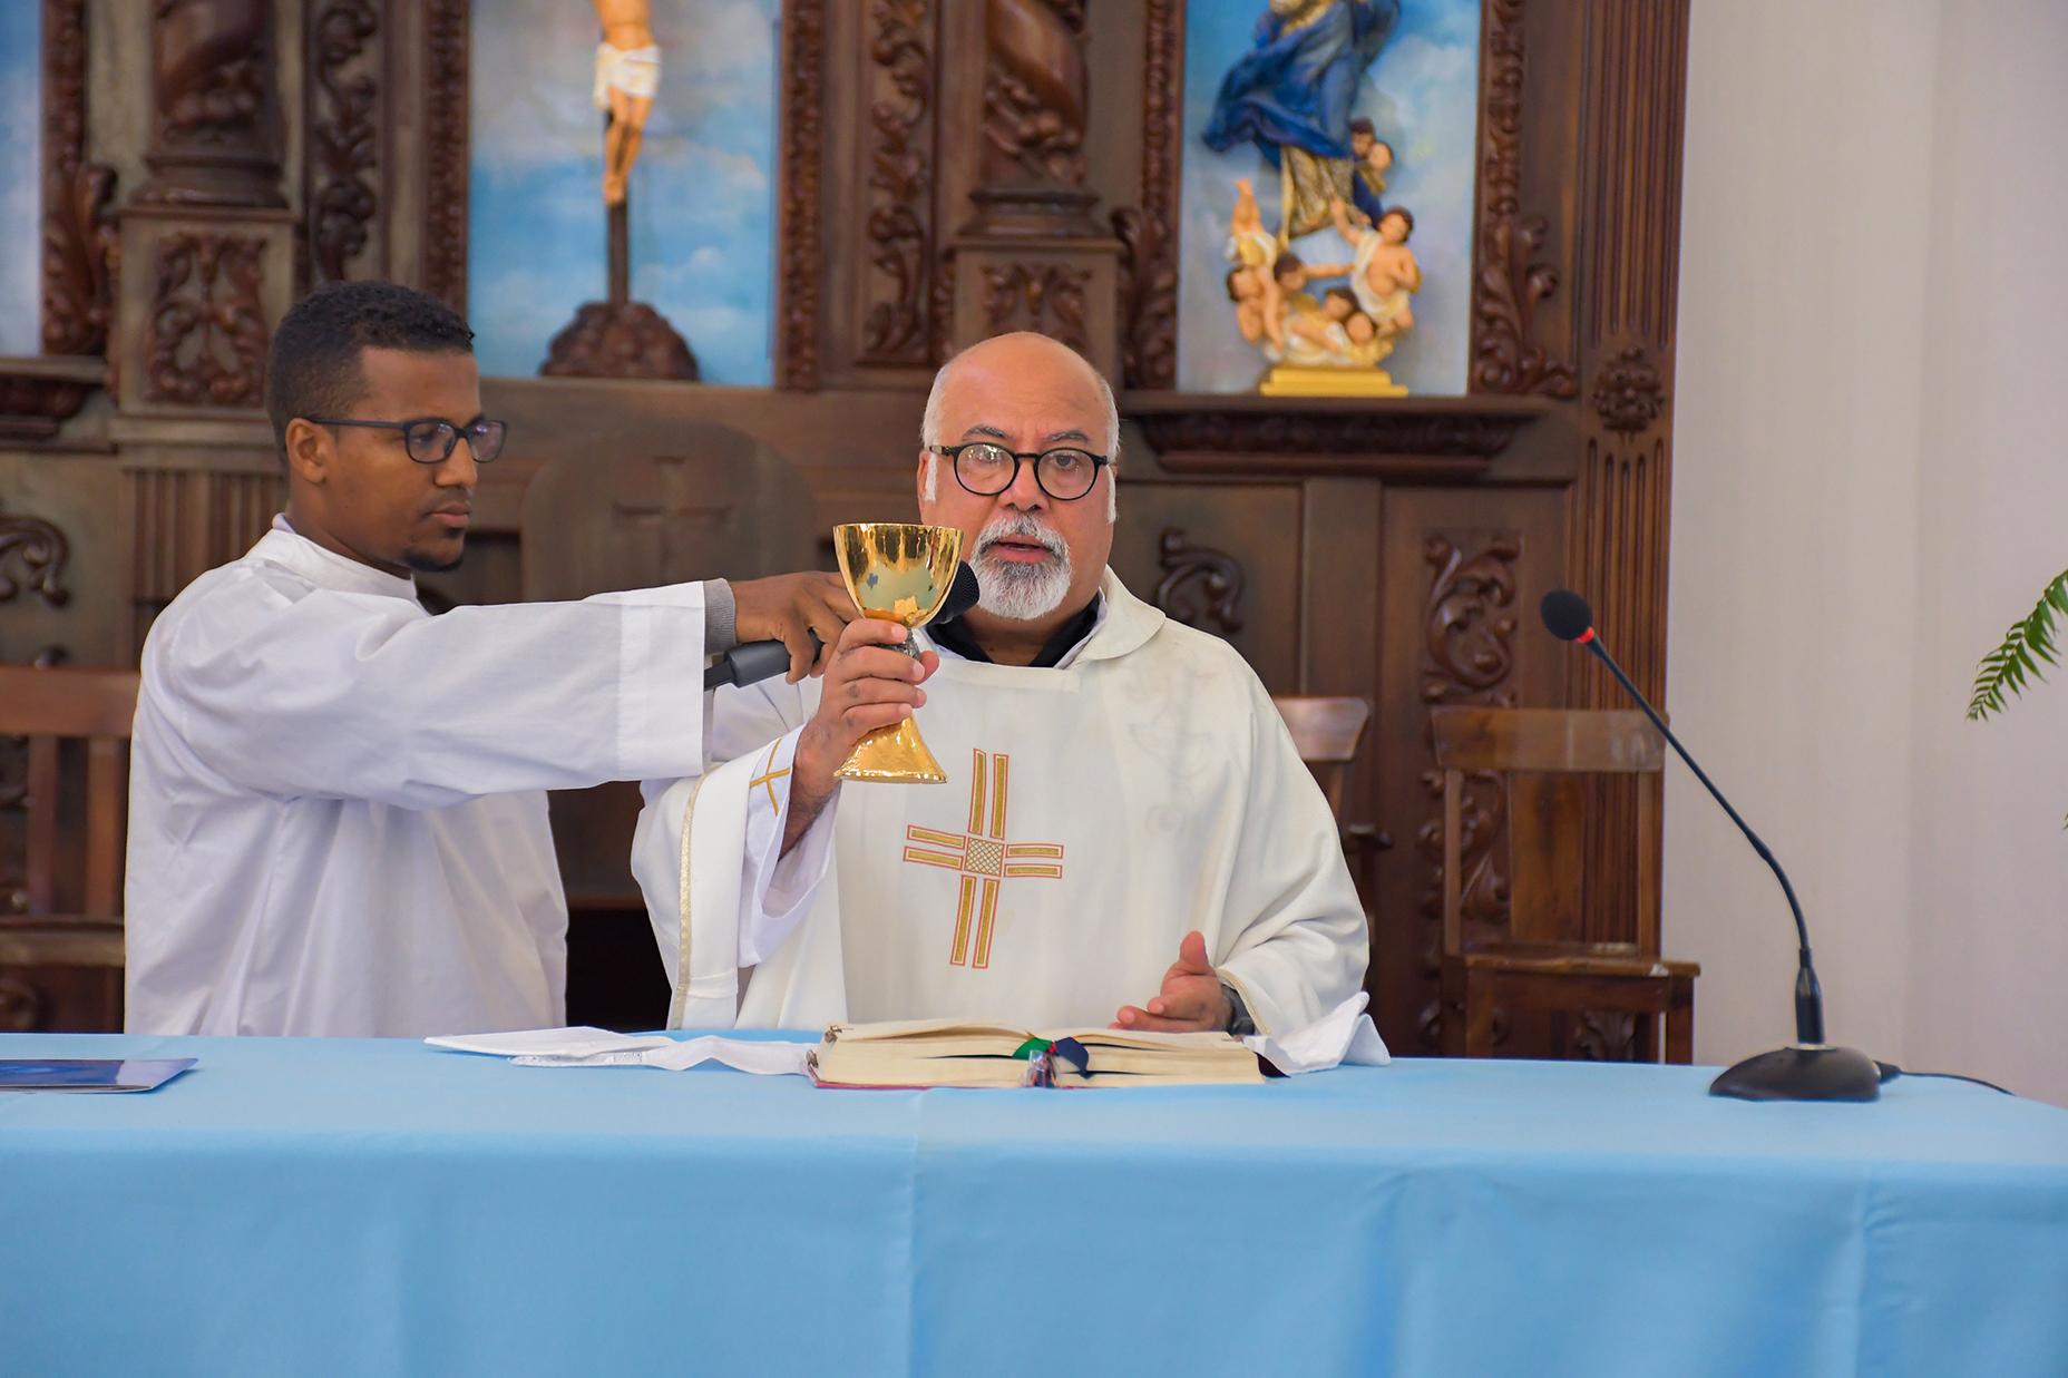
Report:
M1204 1086L1261 1082L1224 1032L1123 1032L906 1020L833 1024L807 1059L819 1086Z

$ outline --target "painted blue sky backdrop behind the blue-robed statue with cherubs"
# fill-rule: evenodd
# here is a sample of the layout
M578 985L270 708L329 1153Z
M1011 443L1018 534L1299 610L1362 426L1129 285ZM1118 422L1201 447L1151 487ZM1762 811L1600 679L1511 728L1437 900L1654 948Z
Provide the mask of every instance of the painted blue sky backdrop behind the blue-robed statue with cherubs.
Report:
M1199 130L1228 66L1255 33L1266 0L1191 0L1185 6L1185 159L1179 199L1181 389L1249 391L1266 360L1235 329L1224 277L1235 178L1251 178L1264 223L1276 228L1276 174L1251 145L1214 153ZM1400 27L1365 74L1357 114L1394 145L1386 205L1415 211L1423 290L1415 329L1386 370L1415 393L1462 393L1470 348L1472 163L1479 137L1479 0L1402 0ZM1307 263L1346 263L1334 230L1295 240Z

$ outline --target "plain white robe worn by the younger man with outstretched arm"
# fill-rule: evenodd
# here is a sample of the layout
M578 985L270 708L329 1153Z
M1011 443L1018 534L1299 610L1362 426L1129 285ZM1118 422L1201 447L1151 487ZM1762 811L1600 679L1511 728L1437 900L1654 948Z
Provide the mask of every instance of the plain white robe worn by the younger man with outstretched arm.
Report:
M697 770L701 675L699 583L430 617L275 523L145 643L128 1030L565 1022L544 790Z

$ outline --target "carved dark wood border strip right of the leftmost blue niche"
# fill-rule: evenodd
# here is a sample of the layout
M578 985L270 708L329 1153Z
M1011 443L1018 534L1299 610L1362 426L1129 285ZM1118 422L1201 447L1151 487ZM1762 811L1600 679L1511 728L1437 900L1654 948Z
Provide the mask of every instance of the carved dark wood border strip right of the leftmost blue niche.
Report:
M101 354L116 172L87 161L87 4L43 0L43 352Z

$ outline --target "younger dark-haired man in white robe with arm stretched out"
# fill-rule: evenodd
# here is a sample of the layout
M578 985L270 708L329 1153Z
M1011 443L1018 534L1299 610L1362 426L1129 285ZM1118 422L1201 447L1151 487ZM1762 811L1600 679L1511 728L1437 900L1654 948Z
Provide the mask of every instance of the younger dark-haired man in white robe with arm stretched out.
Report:
M703 763L707 648L813 668L821 573L430 617L478 468L472 331L393 283L281 321L287 511L151 627L130 770L128 1030L440 1035L560 1024L548 788Z

